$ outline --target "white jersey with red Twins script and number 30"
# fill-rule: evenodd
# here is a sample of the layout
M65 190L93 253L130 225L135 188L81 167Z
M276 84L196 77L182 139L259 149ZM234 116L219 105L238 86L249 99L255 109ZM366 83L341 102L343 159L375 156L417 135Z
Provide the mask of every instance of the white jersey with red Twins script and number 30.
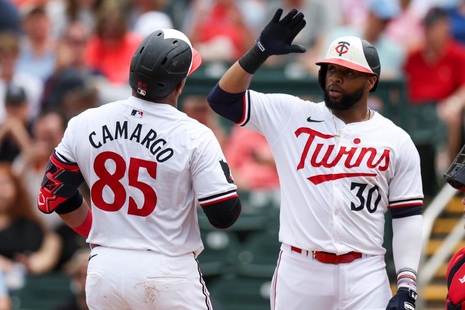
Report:
M261 133L273 152L280 242L339 255L384 255L387 210L393 218L421 214L417 149L379 113L344 124L336 116L333 121L324 102L247 91L237 124Z

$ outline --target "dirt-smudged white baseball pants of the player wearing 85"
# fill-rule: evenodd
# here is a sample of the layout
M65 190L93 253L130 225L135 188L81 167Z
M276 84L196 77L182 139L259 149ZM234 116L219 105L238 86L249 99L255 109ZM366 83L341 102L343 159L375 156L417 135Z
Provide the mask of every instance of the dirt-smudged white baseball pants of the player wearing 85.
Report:
M211 310L194 254L96 247L87 268L90 310Z

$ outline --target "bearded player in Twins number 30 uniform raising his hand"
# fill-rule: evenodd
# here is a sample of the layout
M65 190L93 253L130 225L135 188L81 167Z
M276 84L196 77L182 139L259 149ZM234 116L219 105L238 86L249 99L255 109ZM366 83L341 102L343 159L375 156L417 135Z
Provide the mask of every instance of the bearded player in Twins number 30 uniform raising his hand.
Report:
M376 49L357 37L334 41L320 65L324 102L248 90L271 55L292 45L304 16L279 9L257 43L209 94L218 114L268 141L281 186L281 251L272 310L414 310L422 189L410 137L367 107L376 90ZM397 294L391 299L382 247L391 212Z

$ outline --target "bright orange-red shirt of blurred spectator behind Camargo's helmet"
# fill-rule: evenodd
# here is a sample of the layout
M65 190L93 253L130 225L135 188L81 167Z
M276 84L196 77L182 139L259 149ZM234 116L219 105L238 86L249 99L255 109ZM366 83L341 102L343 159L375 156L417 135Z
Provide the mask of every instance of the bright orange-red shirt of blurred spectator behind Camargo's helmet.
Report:
M116 46L108 46L98 36L94 36L85 50L86 64L92 70L102 73L113 84L127 84L132 55L140 42L142 38L134 33L126 33Z

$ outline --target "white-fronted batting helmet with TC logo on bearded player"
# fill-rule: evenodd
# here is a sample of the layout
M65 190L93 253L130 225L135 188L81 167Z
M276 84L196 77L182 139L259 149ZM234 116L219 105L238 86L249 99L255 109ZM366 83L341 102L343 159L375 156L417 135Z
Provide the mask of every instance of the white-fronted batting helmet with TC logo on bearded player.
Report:
M346 36L331 43L325 59L316 62L317 65L321 66L318 72L318 84L323 91L325 91L328 63L339 64L356 71L375 75L377 80L370 92L373 93L376 90L381 74L381 63L379 62L378 51L370 42L358 37Z

